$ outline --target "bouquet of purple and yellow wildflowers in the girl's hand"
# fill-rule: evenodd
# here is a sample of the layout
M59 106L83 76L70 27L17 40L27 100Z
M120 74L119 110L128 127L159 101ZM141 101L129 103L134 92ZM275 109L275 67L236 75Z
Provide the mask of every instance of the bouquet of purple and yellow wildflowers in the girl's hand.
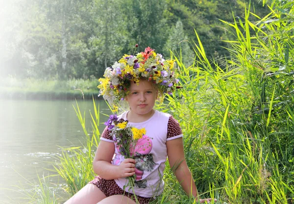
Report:
M108 126L116 148L124 158L133 158L136 153L136 144L146 134L146 129L138 129L130 126L127 120L118 119L117 115L110 115L104 125ZM134 187L136 176L128 177L128 186Z

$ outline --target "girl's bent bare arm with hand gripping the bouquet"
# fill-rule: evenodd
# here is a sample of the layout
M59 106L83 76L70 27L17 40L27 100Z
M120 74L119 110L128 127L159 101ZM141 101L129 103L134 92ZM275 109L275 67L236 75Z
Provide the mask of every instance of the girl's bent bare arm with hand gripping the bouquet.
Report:
M94 172L106 180L133 176L135 174L135 160L127 158L119 166L113 165L111 161L114 151L113 142L100 140L93 160Z

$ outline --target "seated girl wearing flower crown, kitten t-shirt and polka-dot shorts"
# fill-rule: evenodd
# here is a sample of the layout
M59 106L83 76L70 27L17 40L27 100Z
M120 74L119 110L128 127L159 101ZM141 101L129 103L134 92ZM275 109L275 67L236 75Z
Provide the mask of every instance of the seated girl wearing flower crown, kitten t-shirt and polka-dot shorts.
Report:
M109 126L101 135L93 161L99 176L77 192L66 204L135 204L132 189L124 188L126 177L136 175L134 192L140 204L148 204L164 189L163 171L167 156L170 166L189 196L200 203L197 189L184 157L182 131L177 121L167 113L153 109L158 96L172 92L175 78L173 60L164 60L149 47L136 56L124 55L99 79L100 94L110 104L129 105L129 111L118 118L132 127L145 128L138 140L133 158L124 158L110 135ZM216 201L216 200L215 200Z

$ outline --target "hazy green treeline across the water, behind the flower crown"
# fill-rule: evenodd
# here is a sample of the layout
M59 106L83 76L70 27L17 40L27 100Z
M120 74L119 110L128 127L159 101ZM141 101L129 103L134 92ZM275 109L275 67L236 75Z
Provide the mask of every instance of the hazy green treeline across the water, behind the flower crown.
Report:
M13 12L1 25L1 76L101 77L136 44L136 52L149 46L167 57L181 47L191 64L194 28L210 59L227 56L221 40L230 34L219 19L242 20L246 6L240 0L18 0L6 6ZM261 17L268 13L258 0L251 7Z

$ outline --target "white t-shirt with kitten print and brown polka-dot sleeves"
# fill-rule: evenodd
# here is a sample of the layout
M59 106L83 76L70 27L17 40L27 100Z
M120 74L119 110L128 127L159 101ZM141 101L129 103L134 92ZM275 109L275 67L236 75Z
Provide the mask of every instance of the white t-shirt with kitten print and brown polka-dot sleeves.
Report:
M128 111L124 112L118 118L126 120L127 113ZM167 160L166 142L182 137L182 130L172 115L157 110L147 121L142 123L128 122L128 124L138 129L146 129L146 134L137 141L135 146L136 180L134 191L136 195L146 198L158 196L164 189L163 171ZM100 140L115 142L109 133L110 131L105 128ZM119 148L116 146L112 164L120 165L123 159L123 155L120 154ZM115 181L123 189L128 179L117 178ZM127 187L125 191L133 193Z

